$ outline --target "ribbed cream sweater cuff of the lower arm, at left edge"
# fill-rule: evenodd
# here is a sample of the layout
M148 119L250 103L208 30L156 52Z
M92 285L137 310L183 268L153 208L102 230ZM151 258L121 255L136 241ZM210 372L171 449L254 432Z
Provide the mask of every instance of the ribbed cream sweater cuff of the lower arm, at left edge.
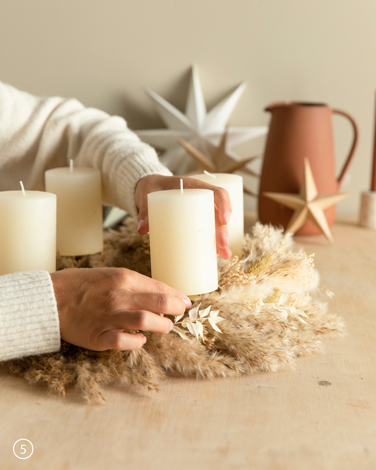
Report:
M59 316L47 271L0 276L0 360L59 349Z

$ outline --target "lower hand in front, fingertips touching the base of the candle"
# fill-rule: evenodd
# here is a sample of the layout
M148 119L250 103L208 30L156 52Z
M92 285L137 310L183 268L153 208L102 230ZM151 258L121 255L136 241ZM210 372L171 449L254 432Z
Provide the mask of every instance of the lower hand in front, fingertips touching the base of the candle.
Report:
M51 280L60 336L94 351L139 349L146 337L125 329L167 334L172 321L156 313L177 316L192 306L178 290L125 268L64 269Z

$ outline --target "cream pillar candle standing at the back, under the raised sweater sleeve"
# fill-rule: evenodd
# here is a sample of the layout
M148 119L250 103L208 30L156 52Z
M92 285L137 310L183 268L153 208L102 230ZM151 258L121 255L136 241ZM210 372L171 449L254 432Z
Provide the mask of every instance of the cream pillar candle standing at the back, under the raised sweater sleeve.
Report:
M62 256L103 250L101 172L95 168L53 168L46 191L57 197L56 248Z

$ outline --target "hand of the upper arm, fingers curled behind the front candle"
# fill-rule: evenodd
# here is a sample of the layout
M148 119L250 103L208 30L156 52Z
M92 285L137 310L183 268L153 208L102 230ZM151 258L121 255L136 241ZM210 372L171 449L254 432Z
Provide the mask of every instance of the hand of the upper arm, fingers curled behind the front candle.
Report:
M184 176L163 176L149 175L141 178L136 185L134 201L139 210L137 231L140 235L149 232L148 219L148 194L165 189L179 189L180 179L183 180L183 187L211 189L214 192L215 204L215 235L217 242L217 253L223 259L231 258L232 253L228 249L227 224L231 216L230 198L226 189L212 186L204 181L195 180Z

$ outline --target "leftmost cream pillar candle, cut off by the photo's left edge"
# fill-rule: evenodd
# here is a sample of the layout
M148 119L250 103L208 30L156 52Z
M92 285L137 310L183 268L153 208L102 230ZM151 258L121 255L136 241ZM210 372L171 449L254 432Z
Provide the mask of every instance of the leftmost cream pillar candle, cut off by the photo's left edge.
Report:
M0 275L56 270L56 196L0 192Z

